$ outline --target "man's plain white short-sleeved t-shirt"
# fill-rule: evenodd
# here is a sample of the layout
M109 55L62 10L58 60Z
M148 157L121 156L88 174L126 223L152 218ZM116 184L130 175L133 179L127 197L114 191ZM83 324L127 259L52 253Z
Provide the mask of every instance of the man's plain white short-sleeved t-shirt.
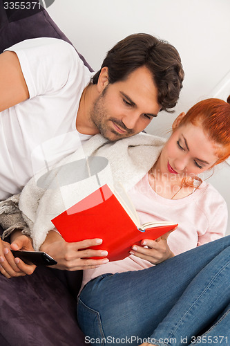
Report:
M75 48L61 39L37 38L7 51L19 57L30 98L0 113L0 200L91 137L75 125L82 91L93 75Z

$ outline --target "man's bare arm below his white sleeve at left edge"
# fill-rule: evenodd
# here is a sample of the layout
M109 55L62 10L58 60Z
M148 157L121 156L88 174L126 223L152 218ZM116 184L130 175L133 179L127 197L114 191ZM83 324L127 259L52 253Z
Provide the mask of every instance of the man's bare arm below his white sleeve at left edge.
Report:
M0 54L0 111L29 98L26 80L15 52Z

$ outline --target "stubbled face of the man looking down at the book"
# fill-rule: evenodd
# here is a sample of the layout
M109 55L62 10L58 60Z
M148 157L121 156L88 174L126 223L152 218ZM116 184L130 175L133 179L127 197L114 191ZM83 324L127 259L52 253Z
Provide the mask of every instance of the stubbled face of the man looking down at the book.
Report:
M114 141L143 131L160 108L152 75L143 66L126 80L105 86L95 101L90 120L102 136Z

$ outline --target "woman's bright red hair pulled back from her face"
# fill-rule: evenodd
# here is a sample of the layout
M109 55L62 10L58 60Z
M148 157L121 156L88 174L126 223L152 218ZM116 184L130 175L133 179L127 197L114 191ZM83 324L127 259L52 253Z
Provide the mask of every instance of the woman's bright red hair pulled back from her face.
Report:
M230 103L230 95L227 100ZM178 127L191 122L202 127L208 138L218 146L218 162L230 156L230 104L218 98L209 98L195 104L186 113Z

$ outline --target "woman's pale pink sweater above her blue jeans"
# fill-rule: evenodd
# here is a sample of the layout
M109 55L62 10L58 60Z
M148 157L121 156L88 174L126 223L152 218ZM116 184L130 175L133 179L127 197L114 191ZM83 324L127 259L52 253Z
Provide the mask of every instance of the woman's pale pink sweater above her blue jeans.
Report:
M172 200L156 194L149 185L146 174L128 194L142 224L162 220L179 224L168 238L169 247L175 255L224 236L227 228L227 204L219 192L205 181L188 197ZM122 261L108 262L84 271L82 287L104 273L137 271L150 266L153 264L130 255Z

